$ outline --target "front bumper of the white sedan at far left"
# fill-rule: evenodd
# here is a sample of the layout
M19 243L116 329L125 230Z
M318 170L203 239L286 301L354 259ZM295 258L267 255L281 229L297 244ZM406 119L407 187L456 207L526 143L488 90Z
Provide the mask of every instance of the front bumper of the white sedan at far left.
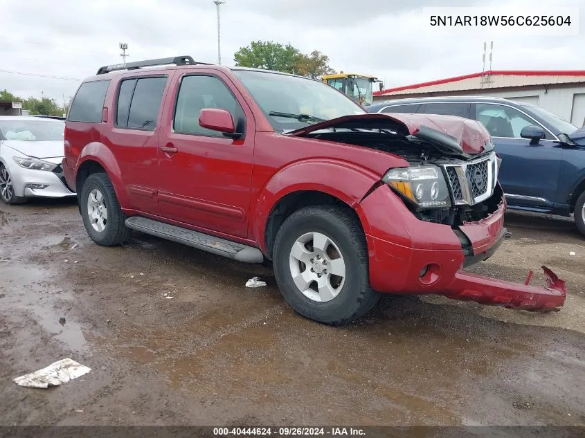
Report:
M53 171L48 171L25 169L12 163L9 172L12 178L12 188L17 197L64 198L75 196L75 192L69 190L65 183L61 165Z

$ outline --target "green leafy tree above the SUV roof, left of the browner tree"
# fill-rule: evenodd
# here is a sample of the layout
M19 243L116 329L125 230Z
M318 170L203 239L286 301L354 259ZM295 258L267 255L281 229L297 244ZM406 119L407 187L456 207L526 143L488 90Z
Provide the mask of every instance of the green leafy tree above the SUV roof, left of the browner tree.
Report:
M249 46L240 47L233 59L236 66L293 73L300 56L300 51L290 44L253 41Z

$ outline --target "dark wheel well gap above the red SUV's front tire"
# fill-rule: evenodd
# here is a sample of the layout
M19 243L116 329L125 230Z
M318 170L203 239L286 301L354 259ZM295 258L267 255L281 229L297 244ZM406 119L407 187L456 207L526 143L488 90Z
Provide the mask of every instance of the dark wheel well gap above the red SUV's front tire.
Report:
M361 222L359 221L359 217L355 210L348 206L347 203L341 201L341 199L336 198L331 194L318 192L315 190L301 190L299 192L292 192L282 197L278 203L276 203L267 219L266 228L264 228L264 241L266 242L268 253L267 257L272 259L272 247L274 240L276 239L276 233L278 232L280 226L282 226L282 223L285 222L287 217L301 208L308 206L322 206L325 204L343 206L344 208L351 210L361 226Z

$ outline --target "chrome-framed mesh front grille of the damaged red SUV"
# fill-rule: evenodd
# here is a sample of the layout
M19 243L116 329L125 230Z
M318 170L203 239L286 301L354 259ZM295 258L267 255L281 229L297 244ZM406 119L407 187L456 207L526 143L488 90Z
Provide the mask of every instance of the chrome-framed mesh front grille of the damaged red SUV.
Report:
M490 196L496 188L496 154L456 165L444 165L451 196L456 205L474 205Z

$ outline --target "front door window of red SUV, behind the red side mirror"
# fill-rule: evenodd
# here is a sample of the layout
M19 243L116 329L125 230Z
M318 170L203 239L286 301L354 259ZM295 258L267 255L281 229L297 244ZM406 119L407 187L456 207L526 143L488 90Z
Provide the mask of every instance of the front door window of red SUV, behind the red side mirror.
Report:
M199 126L199 113L204 108L229 111L236 122L241 114L240 104L227 86L213 76L186 76L181 81L177 107L174 112L173 129L183 134L221 136L217 131ZM236 130L242 132L242 127Z

